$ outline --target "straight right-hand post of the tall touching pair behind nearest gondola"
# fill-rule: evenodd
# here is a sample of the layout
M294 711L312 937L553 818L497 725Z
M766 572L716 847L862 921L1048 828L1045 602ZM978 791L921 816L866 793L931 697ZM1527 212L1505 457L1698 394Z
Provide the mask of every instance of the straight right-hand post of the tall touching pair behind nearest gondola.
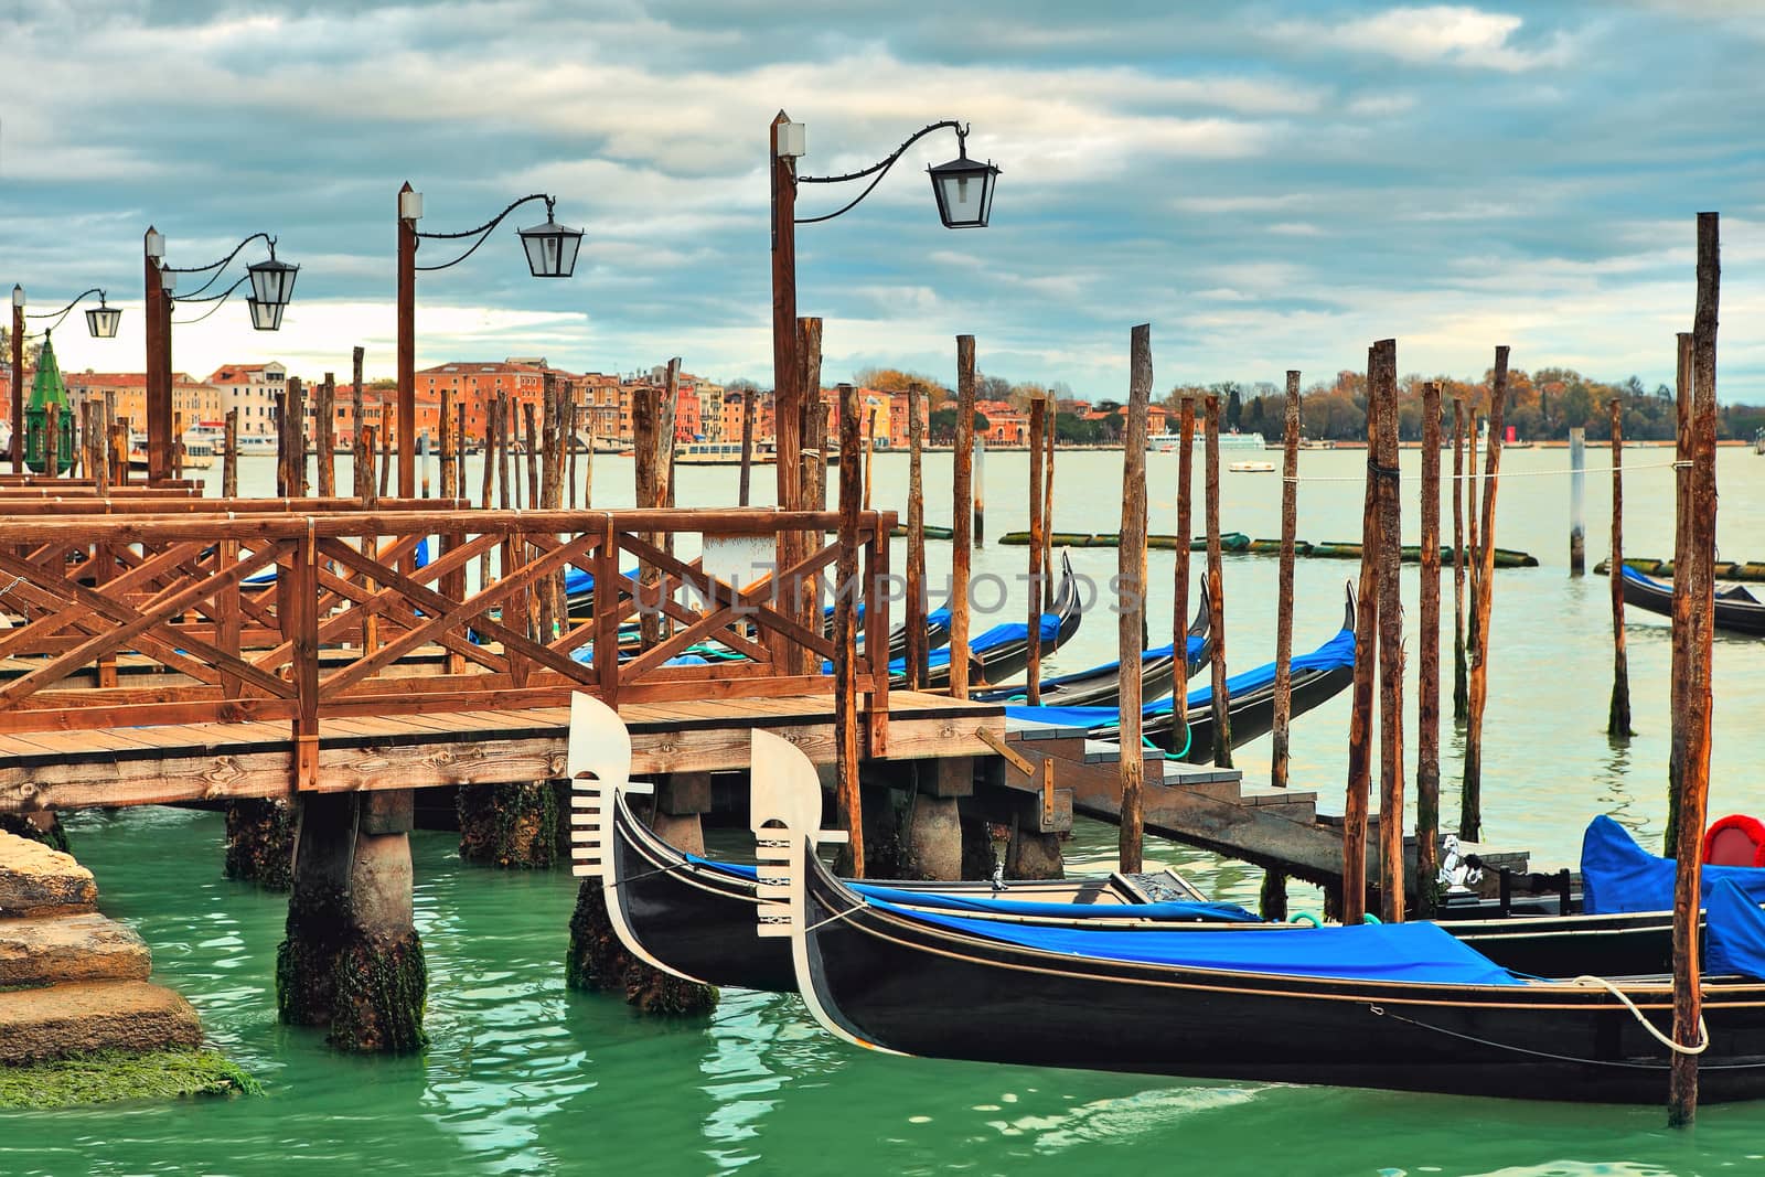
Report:
M1378 902L1403 921L1403 506L1398 499L1398 341L1378 341Z

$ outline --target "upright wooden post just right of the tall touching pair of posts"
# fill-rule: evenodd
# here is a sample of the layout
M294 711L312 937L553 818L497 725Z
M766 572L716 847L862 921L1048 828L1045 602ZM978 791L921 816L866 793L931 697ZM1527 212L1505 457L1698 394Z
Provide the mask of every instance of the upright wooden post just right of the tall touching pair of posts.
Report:
M1458 489L1453 491L1458 494ZM1435 914L1440 875L1440 385L1423 385L1423 600L1416 704L1416 914Z

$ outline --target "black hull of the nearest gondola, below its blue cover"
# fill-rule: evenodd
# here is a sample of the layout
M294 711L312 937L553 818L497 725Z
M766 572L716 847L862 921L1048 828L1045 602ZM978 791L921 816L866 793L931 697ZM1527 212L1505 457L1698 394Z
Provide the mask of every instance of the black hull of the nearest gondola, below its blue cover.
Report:
M1603 988L1340 981L1057 955L854 907L824 872L805 875L798 981L824 1025L867 1046L1184 1078L1664 1099L1664 1050ZM1668 1018L1668 985L1631 992ZM1712 983L1705 1015L1712 1046L1700 1098L1765 1096L1765 985Z

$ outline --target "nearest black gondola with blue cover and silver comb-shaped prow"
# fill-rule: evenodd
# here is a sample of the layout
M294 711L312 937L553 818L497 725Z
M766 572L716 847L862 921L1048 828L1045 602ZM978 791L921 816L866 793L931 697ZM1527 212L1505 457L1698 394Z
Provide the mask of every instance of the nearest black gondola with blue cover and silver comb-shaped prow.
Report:
M988 925L865 900L814 861L807 836L777 842L784 861L762 879L782 868L792 882L761 918L791 939L815 1020L872 1050L1528 1099L1659 1103L1666 1092L1668 1050L1649 1025L1671 1020L1664 976L1521 979L1428 923ZM1700 1099L1765 1096L1765 983L1707 978L1703 992Z

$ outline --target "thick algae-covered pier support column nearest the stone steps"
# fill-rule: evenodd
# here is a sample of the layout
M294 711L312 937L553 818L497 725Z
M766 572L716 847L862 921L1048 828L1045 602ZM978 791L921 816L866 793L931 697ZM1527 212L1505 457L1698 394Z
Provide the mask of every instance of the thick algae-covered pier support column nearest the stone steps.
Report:
M429 974L411 921L411 792L309 794L297 812L281 1020L328 1025L341 1050L418 1050Z

